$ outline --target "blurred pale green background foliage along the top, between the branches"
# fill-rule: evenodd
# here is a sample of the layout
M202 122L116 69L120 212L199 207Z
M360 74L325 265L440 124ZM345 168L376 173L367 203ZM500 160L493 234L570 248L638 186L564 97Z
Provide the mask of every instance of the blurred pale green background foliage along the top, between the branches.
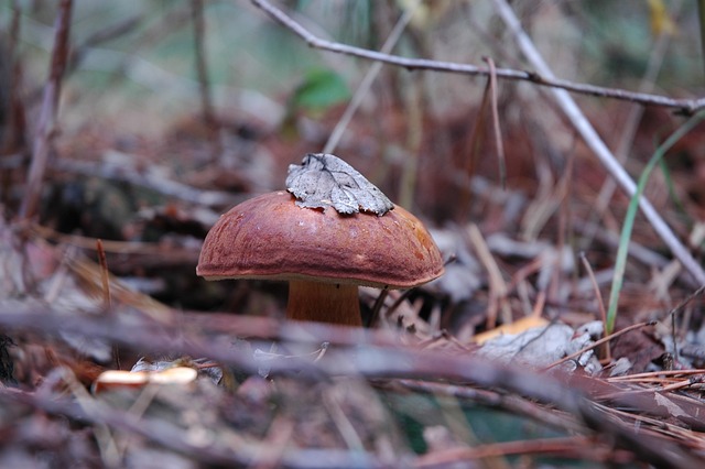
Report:
M46 76L57 2L2 2L0 26L6 42L13 3L21 10L20 53L25 86L31 91L42 86ZM323 37L379 48L400 11L412 3L305 0L284 6ZM676 4L680 11L674 18ZM354 88L370 65L307 47L246 1L207 1L204 8L205 55L220 113L247 112L256 118L272 112L279 108L264 103L285 102L302 86L311 86L307 81L312 79L325 88L327 84L321 83L315 73L321 69L334 72L332 80L343 80ZM659 88L680 95L703 83L695 2L541 0L520 2L516 8L562 78L634 87L657 35L663 31L673 36L657 81ZM77 1L72 31L75 45L86 44L115 25L134 23L124 34L96 46L88 44L82 51L83 59L65 84L63 126L99 119L129 132L160 132L169 128L170 120L193 112L198 106L198 87L189 10L189 2L183 0ZM481 64L482 56L492 56L500 66L521 68L513 61L502 61L512 47L492 17L490 2L444 1L422 3L395 53L474 64ZM405 72L387 68L386 74ZM419 75L424 76L432 97L431 110L437 113L470 106L481 91L481 79ZM339 94L335 86L328 91ZM253 106L243 105L248 97ZM333 98L339 97L332 96L328 102L336 103Z

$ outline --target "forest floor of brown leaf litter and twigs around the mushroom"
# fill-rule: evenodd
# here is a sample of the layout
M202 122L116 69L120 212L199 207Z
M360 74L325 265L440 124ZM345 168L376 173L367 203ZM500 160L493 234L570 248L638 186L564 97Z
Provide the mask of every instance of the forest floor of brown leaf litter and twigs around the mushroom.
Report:
M196 106L154 127L169 109L145 105L91 120L85 100L97 95L72 88L70 64L59 113L47 110L51 78L34 100L0 95L11 131L0 153L0 467L705 458L702 285L637 215L609 330L630 197L545 96L505 83L494 111L476 101L438 113L410 78L433 73L381 76L334 153L425 222L445 273L410 291L361 287L366 326L347 328L285 320L283 282L196 275L220 214L284 189L289 165L326 146L345 102L243 99L245 111ZM337 92L335 77L306 85L319 90L316 79ZM595 99L581 98L587 120L610 148L629 145L637 177L688 119ZM44 112L56 126L45 134ZM644 196L702 264L705 126L688 122Z

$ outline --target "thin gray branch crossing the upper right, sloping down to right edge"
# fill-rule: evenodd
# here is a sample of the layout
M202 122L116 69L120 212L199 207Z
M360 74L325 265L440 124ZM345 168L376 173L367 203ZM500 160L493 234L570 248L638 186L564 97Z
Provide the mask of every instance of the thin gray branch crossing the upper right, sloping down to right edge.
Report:
M336 52L339 54L352 55L356 57L368 58L370 61L383 62L386 64L397 65L408 68L410 70L434 70L446 72L455 74L464 74L471 76L489 76L489 67L479 67L469 64L459 64L456 62L444 61L431 61L426 58L406 58L398 55L389 55L381 52L370 51L367 48L355 47L338 42L323 40L308 30L306 30L301 23L294 21L291 17L284 13L282 10L272 6L267 0L251 0L254 6L262 9L275 21L290 29L301 39L303 39L310 46L322 48L325 51ZM510 80L530 81L535 85L547 86L552 88L560 88L567 91L578 92L582 95L597 96L601 98L612 98L631 102L639 102L642 105L660 106L665 108L676 109L679 112L685 114L692 114L705 107L705 98L698 99L674 99L665 96L652 95L647 92L634 92L626 89L606 88L601 86L595 86L589 84L574 83L565 79L555 78L553 75L543 74L541 70L527 72L516 70L511 68L497 68L495 70L498 78L505 78Z

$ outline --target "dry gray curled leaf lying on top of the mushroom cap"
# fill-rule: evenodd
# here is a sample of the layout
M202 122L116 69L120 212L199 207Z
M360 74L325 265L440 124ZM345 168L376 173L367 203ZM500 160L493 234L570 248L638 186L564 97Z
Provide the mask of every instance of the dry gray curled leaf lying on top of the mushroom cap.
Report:
M339 214L362 210L381 217L394 208L394 204L352 166L326 153L308 153L301 165L289 165L286 190L296 197L300 207L333 207Z

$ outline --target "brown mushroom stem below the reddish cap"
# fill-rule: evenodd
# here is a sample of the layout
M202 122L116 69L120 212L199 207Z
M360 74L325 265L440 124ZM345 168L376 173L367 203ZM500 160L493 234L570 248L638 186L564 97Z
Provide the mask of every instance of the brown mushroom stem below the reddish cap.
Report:
M362 327L357 285L292 280L286 317Z

